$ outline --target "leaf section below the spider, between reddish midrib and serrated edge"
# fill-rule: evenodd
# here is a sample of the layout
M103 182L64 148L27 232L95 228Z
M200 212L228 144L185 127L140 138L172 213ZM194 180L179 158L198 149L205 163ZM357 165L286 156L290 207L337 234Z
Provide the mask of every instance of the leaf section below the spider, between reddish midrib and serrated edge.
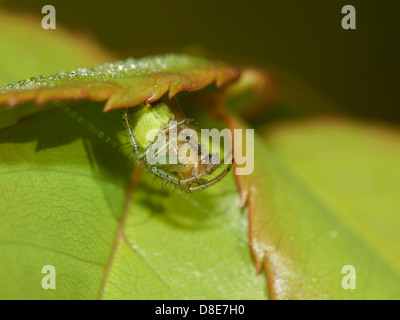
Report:
M265 299L233 176L191 196L151 181L134 192L103 298Z

